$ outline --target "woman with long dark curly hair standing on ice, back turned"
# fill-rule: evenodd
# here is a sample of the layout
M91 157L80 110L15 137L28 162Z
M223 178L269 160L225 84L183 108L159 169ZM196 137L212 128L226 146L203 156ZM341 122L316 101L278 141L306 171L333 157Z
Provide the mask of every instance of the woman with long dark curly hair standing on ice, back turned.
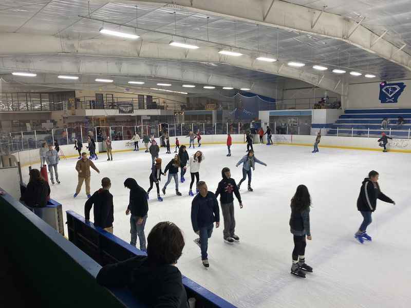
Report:
M305 185L298 185L291 199L290 232L294 237L291 274L305 278L305 273L312 273L312 267L305 263L305 247L311 241L310 232L311 197Z

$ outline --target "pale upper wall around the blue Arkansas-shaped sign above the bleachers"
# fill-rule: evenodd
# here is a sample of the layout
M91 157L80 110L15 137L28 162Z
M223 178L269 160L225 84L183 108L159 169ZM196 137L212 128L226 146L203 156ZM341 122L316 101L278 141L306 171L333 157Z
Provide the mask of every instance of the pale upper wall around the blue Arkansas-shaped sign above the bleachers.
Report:
M350 84L348 88L348 104L345 107L361 108L410 108L411 107L411 80L393 80L388 83L403 82L406 87L398 99L398 103L380 102L380 82Z

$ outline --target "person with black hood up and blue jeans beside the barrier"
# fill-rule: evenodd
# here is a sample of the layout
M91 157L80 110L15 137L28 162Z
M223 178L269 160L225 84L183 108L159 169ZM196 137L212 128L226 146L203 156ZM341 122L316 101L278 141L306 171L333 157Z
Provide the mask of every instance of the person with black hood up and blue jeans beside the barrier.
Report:
M124 187L130 189L130 199L125 211L125 215L132 214L130 217L130 244L136 246L138 236L140 240L140 250L145 252L144 226L148 213L147 193L137 184L136 180L132 178L124 181Z

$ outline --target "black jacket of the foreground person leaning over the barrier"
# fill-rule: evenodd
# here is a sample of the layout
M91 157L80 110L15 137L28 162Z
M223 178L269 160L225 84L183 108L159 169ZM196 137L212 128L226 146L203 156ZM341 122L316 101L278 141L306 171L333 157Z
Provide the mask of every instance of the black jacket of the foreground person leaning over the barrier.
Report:
M136 299L150 307L189 307L178 268L153 264L144 256L104 266L97 275L97 283L107 287L127 287Z

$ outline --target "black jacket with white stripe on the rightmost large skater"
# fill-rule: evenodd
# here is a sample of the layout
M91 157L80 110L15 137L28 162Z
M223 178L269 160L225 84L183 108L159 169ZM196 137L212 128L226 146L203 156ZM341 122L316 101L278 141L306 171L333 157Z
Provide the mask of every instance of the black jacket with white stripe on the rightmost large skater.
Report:
M378 182L372 183L369 178L365 178L361 185L360 195L357 200L358 210L371 212L375 211L377 207L377 199L388 203L394 203L393 200L381 192Z

